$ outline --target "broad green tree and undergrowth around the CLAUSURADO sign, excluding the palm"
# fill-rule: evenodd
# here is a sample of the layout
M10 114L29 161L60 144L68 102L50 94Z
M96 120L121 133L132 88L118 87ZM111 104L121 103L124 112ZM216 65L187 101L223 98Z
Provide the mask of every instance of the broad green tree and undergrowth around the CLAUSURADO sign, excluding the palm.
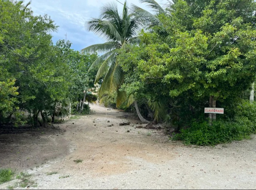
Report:
M255 11L251 0L169 4L150 32L142 30L139 46L119 52L127 106L139 100L151 108L155 120L178 131L188 128L179 138L194 135L190 143L216 144L254 132L246 115L228 110L241 104L238 97L249 99L244 94L255 80ZM218 115L211 126L204 107L212 106L227 114Z

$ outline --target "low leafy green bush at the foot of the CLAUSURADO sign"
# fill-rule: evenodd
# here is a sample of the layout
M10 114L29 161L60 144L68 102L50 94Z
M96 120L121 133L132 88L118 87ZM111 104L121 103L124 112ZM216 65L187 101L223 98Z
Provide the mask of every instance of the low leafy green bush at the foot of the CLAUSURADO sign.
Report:
M215 121L212 126L207 121L193 121L190 128L181 129L173 139L185 144L215 145L248 138L256 132L256 103L242 100L236 113L232 120Z

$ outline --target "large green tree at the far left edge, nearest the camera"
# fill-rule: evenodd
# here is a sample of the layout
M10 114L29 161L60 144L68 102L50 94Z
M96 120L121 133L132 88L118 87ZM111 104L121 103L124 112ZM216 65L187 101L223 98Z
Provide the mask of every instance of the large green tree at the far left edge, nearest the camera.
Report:
M1 0L0 21L1 65L18 87L15 106L32 113L37 126L38 114L66 99L69 88L68 65L49 34L57 27L47 15L34 16L22 1Z

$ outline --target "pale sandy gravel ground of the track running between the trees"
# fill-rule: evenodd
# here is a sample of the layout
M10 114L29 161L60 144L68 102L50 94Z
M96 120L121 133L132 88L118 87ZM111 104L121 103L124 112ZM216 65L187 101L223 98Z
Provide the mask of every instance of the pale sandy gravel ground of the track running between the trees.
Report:
M54 142L69 152L27 170L36 187L13 180L0 189L256 189L255 135L215 147L184 146L164 131L135 129L139 121L131 114L98 105L91 110L59 125L66 131Z

